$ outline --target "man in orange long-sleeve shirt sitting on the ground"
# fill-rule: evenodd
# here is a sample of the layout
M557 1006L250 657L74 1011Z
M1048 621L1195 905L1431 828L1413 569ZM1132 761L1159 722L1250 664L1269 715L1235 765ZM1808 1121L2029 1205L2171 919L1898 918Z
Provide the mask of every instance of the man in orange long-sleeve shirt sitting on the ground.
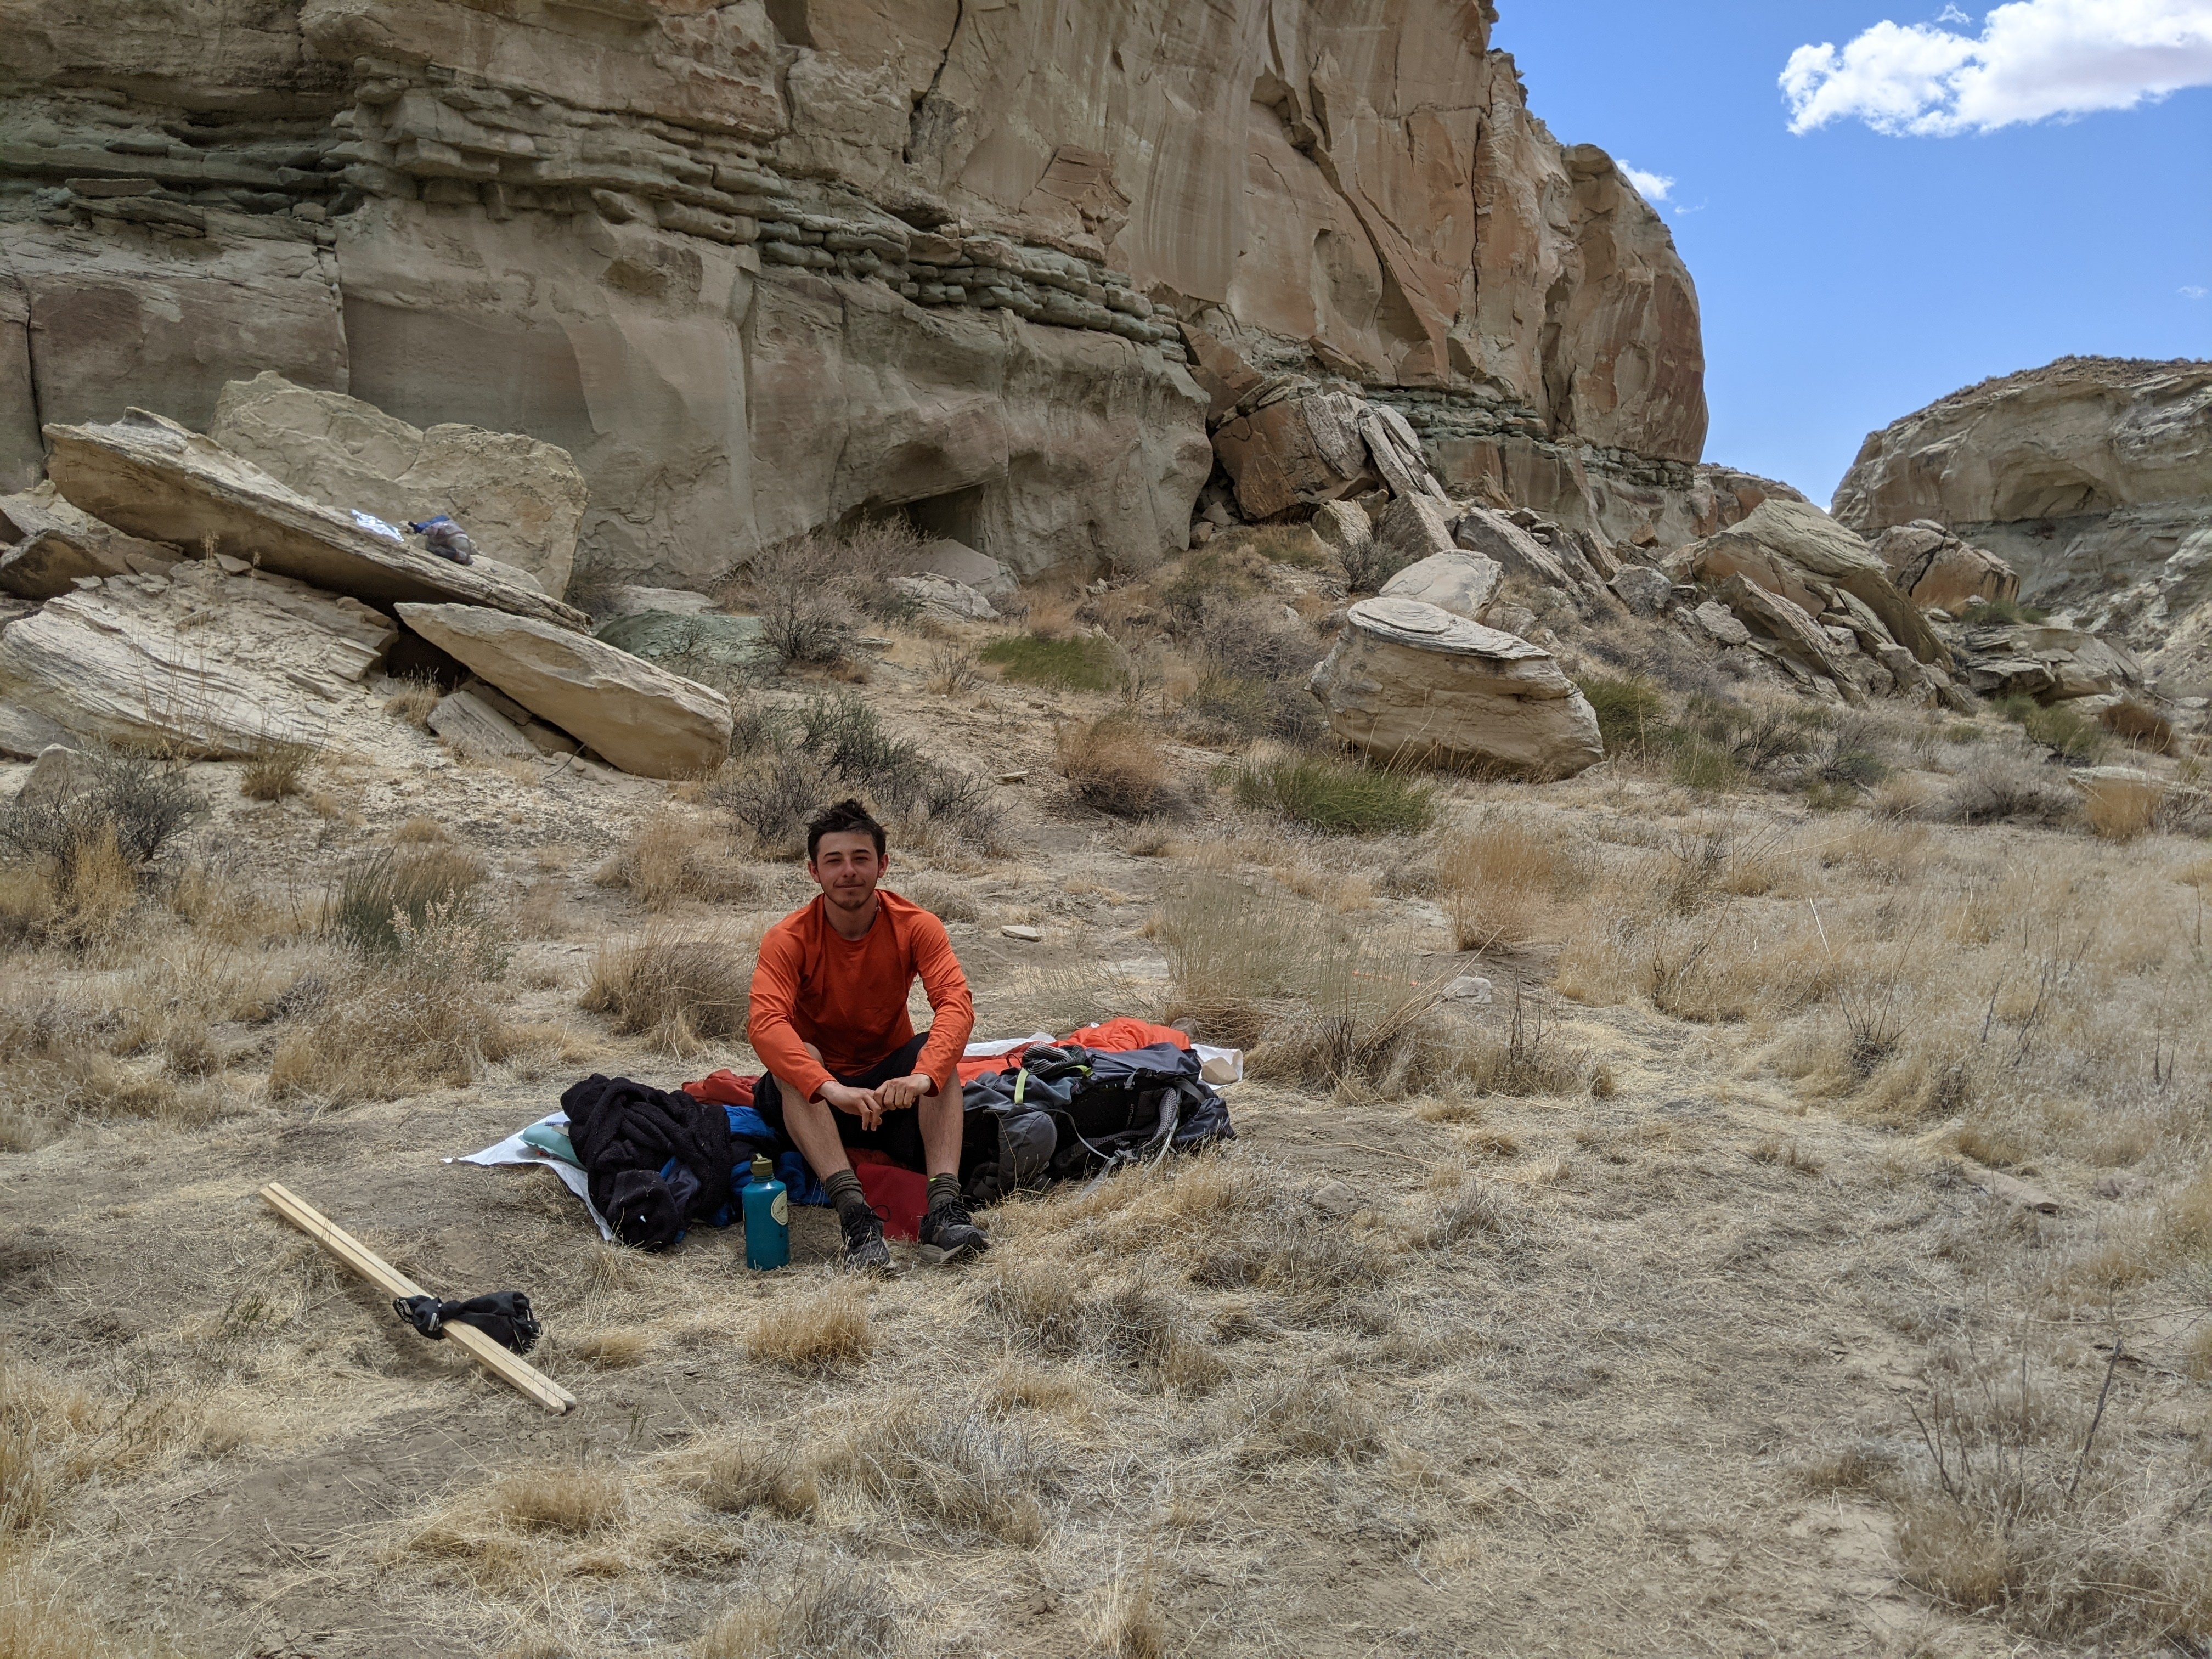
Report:
M960 1203L958 1062L975 1004L945 922L880 891L885 869L883 825L867 807L838 801L823 812L807 825L807 874L823 891L768 929L752 969L752 1051L770 1073L754 1108L781 1121L830 1190L852 1267L887 1267L891 1252L849 1146L929 1175L925 1256L991 1248ZM920 1035L907 1018L916 975L933 1011Z

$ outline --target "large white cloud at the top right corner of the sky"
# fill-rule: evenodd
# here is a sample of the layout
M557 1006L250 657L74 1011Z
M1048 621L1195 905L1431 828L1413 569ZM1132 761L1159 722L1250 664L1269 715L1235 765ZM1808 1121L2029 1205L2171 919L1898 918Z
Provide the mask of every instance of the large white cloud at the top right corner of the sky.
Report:
M1947 7L1938 22L1971 22ZM1980 35L1878 22L1845 46L1798 46L1781 75L1790 131L1860 119L1951 137L2135 108L2212 86L2212 0L2013 0Z

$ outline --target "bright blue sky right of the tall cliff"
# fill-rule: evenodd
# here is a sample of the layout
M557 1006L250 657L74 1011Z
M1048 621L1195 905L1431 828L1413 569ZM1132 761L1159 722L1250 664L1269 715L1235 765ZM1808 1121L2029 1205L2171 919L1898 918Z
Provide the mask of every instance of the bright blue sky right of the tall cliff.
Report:
M1708 460L1825 504L1867 431L1984 376L2068 352L2212 356L2212 0L2026 0L1993 22L1878 0L1498 9L1493 44L1562 142L1672 179L1659 210L1703 305ZM2084 49L2130 15L2179 51ZM1958 71L1953 42L1975 40L1991 62ZM1792 133L1778 77L1818 44L1838 51L1798 60ZM2181 91L2013 119L2124 102L2146 62ZM2068 75L2086 91L2053 95Z

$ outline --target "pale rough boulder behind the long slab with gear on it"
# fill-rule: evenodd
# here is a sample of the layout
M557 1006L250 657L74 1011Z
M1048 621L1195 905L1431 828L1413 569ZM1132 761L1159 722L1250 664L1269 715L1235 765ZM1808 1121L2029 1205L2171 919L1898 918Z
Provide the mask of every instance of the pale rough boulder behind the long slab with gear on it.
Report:
M208 436L310 500L389 524L449 513L478 551L529 571L555 599L568 591L591 491L557 445L451 422L425 431L274 369L228 383Z

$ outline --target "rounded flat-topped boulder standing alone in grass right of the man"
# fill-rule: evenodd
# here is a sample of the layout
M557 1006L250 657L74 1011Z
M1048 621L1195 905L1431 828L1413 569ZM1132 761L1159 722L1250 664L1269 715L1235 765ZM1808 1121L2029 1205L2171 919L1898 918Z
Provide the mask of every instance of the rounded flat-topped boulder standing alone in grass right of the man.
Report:
M1310 684L1329 730L1380 761L1559 779L1606 754L1595 710L1548 650L1418 599L1352 606Z

